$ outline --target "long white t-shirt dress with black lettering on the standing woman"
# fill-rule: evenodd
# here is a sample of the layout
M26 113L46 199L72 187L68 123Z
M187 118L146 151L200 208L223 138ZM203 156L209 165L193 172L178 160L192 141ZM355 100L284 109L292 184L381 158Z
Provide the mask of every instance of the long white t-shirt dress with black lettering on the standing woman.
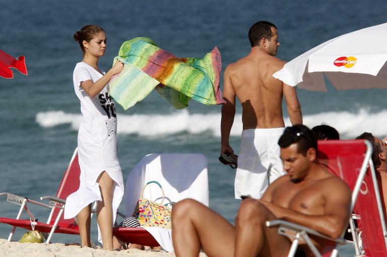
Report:
M113 225L116 211L124 193L122 172L117 158L115 107L113 99L108 93L109 84L93 98L89 97L81 87L82 81L92 80L95 82L102 76L103 74L85 62L77 63L74 69L74 90L81 101L83 115L78 132L78 157L81 176L78 191L71 194L66 200L64 218L73 218L90 203L102 200L99 185L96 181L105 170L115 182L112 200Z

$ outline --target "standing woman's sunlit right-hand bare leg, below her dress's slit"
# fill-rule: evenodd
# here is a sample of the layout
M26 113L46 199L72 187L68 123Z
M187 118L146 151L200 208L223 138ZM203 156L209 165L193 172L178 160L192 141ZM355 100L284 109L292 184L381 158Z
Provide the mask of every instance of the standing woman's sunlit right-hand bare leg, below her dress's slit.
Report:
M103 249L113 250L113 186L114 181L107 172L102 172L97 182L101 190L102 201L97 203L97 222L101 230Z

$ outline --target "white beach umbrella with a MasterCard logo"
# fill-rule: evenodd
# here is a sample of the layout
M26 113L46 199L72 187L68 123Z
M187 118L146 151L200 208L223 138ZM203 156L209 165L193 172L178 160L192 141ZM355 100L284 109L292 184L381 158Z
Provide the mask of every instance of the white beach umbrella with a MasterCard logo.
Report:
M387 23L322 43L273 74L286 84L326 92L326 76L337 90L387 88Z

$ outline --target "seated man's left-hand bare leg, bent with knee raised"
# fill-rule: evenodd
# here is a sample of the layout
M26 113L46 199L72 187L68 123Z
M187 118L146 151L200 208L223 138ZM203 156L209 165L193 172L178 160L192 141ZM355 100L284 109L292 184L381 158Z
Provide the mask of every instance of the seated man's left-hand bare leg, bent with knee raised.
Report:
M172 208L172 241L177 257L234 256L235 228L205 205L185 199Z

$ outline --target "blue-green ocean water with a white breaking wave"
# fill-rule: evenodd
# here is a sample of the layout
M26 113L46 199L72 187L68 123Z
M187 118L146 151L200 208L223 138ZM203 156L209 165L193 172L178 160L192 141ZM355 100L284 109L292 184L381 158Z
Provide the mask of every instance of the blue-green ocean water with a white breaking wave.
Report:
M217 45L223 70L249 50L247 32L259 20L278 27L278 57L286 61L331 38L387 22L384 0L348 3L327 1L21 1L0 9L0 49L26 56L28 76L15 72L0 78L0 192L31 199L55 195L61 176L77 145L80 104L73 90L74 66L82 53L73 34L86 24L98 24L107 33L108 48L100 59L111 66L122 42L150 37L161 48L180 57L202 57ZM377 38L364 39L372 47ZM343 138L363 131L385 136L385 90L298 90L304 123L334 126ZM235 170L218 161L220 106L191 101L185 110L174 110L152 93L133 108L118 112L118 157L123 177L146 154L202 152L208 158L210 207L230 222L239 201L233 199ZM286 110L284 109L285 116ZM241 108L230 143L239 151ZM290 124L285 118L286 124ZM17 206L0 201L0 216L16 217ZM123 205L121 205L123 210ZM33 208L39 218L45 210ZM95 223L95 219L93 221ZM0 225L5 238L9 226ZM24 233L17 229L15 239ZM92 228L96 238L96 225ZM54 242L78 241L77 236L56 234ZM353 255L351 249L342 256Z

